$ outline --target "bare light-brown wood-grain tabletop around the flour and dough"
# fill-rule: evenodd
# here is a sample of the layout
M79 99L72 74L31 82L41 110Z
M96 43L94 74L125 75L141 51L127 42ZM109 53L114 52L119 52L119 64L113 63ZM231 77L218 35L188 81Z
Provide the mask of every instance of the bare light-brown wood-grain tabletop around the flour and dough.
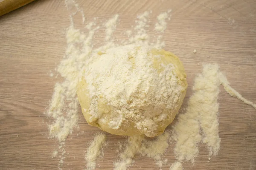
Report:
M193 79L203 62L217 62L233 88L256 102L256 1L255 0L77 0L86 21L120 15L114 34L124 38L137 14L152 10L154 37L156 16L172 9L164 34L166 50L183 61L188 77L186 107L192 95ZM0 17L0 169L57 170L58 159L51 153L58 146L48 139L45 117L55 82L49 77L65 53L65 29L70 25L64 0L37 0ZM75 26L82 26L81 16ZM99 37L104 32L99 32ZM193 54L196 49L197 53ZM219 95L221 150L208 162L208 151L200 144L195 165L184 170L256 170L256 110L229 96ZM66 142L69 153L64 170L84 169L84 150L98 128L87 125L81 112L80 130ZM171 126L171 125L170 125ZM169 126L169 127L170 127ZM169 128L168 127L168 128ZM81 133L84 131L84 133ZM77 135L79 134L79 135ZM99 170L113 169L117 141L123 136L108 134L109 146L97 161ZM168 164L175 161L173 145L167 150ZM155 162L138 156L130 170L154 170Z

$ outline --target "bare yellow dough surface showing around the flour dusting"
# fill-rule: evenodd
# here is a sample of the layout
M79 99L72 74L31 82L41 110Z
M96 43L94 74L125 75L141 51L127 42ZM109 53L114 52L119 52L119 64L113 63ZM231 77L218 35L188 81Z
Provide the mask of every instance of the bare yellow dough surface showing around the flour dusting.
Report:
M115 135L132 136L132 135L138 135L138 134L145 134L146 136L154 137L163 133L165 128L173 121L186 95L187 82L186 82L185 70L183 68L182 63L180 62L180 59L169 51L153 49L148 51L148 54L152 54L151 55L153 56L152 67L156 69L159 74L161 74L161 72L163 71L163 65L168 65L170 63L174 65L177 84L183 88L183 90L180 91L179 99L175 103L175 107L171 109L167 109L165 111L166 114L168 115L166 119L164 119L163 121L157 122L156 129L151 130L150 133L148 131L137 128L136 118L129 117L129 116L125 116L119 128L110 127L109 122L111 122L111 120L116 116L112 114L113 107L111 105L107 105L107 100L105 99L104 95L100 95L98 96L98 112L100 113L100 115L102 115L102 118L104 118L104 120L107 120L107 121L102 121L99 117L92 116L89 109L92 99L90 98L90 95L89 95L90 91L88 89L86 78L84 78L83 76L79 80L79 83L77 86L77 95L81 105L81 110L89 125L99 127L101 130L104 130L108 133L115 134ZM104 53L98 53L98 55L99 56L104 55ZM154 57L154 56L157 56L157 57ZM134 62L133 57L131 57L130 60L131 62Z

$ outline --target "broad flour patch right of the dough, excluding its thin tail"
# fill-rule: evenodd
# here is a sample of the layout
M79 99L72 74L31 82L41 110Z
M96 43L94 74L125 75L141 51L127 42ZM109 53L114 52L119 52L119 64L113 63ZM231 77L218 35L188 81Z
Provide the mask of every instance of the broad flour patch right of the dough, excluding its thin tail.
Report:
M176 141L175 156L178 161L192 161L198 156L198 143L203 142L209 149L209 157L218 153L218 65L204 65L202 74L195 78L194 94L190 97L186 112L180 114L173 126L172 138Z

